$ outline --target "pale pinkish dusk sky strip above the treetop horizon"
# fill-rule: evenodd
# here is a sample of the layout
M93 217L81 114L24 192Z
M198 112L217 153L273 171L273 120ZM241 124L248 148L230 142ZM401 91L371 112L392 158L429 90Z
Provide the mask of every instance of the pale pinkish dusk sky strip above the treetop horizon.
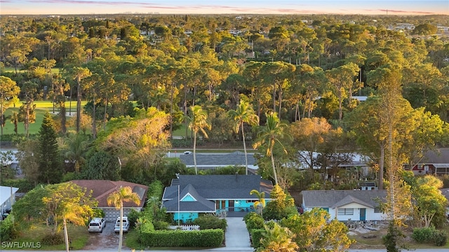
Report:
M104 13L449 15L449 0L0 0L1 15Z

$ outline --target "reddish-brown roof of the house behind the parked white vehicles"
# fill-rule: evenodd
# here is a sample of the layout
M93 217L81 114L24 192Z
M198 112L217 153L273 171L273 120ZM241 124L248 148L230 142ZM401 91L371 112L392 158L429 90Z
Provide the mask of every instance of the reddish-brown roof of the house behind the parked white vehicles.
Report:
M109 180L74 180L70 182L82 188L87 188L88 191L92 190L92 197L98 200L98 207L111 207L107 204L107 197L125 186L129 186L133 193L137 193L140 198L140 205L136 206L133 202L123 202L123 207L143 207L147 198L148 186L137 183Z

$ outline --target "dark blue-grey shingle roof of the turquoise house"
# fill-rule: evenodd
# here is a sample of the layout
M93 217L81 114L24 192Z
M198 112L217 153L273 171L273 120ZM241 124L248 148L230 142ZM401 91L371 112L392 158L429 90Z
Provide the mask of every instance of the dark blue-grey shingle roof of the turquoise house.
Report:
M256 200L255 195L250 195L251 190L264 192L265 198L269 198L272 188L271 181L257 175L179 175L165 188L162 200L168 211L177 211L180 190L180 199L189 194L196 200L181 201L181 211L215 211L213 200Z

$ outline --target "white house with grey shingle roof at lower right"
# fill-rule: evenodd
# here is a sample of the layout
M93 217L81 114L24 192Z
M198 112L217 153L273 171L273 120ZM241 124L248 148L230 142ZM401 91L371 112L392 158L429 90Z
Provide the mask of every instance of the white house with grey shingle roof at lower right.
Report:
M386 190L303 190L302 209L325 209L330 218L338 221L381 221L386 216L380 211Z

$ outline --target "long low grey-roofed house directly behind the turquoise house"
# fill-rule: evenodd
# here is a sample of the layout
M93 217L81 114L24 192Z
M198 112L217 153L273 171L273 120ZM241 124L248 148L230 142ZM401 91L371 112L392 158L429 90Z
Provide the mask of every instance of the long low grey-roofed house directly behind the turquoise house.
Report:
M257 161L254 153L248 155L248 172L255 174L257 169ZM194 154L181 154L180 160L186 167L194 167ZM233 153L196 153L196 168L198 169L215 169L219 167L240 166L245 167L245 153L234 151Z

